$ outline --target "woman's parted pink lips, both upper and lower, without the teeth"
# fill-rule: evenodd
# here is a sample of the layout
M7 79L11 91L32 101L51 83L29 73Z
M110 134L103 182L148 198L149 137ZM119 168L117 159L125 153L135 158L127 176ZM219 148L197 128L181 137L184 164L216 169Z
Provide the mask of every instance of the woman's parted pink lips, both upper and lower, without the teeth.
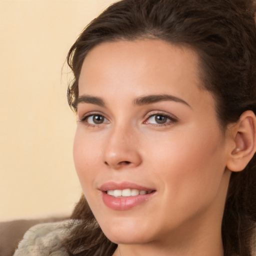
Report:
M138 194L127 197L114 197L106 193L106 190L115 190L115 189L125 189L125 188L135 188L138 190L152 191L148 194ZM140 186L138 184L130 183L130 182L107 182L100 186L99 188L102 191L102 200L104 204L113 209L113 210L127 210L130 209L146 200L148 200L154 193L155 189L147 188Z

